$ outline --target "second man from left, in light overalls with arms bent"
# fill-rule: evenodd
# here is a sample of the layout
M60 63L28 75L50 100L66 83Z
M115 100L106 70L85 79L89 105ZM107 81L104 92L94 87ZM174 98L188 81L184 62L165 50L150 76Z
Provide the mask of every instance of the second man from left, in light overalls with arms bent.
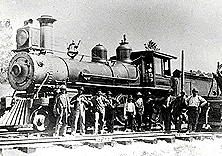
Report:
M88 105L87 98L83 95L84 88L78 89L78 94L75 95L70 102L71 114L73 123L71 124L71 135L76 135L77 123L80 123L80 135L85 134L85 110Z

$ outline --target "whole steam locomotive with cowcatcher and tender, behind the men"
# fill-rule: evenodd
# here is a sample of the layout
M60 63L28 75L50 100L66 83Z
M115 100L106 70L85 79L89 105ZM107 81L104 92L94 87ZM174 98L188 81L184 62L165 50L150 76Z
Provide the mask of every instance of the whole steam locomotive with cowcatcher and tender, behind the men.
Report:
M107 49L98 44L91 51L91 61L83 61L84 56L79 54L74 42L67 48L67 57L61 57L52 49L56 19L42 15L37 20L40 29L33 28L30 25L33 21L28 20L17 30L17 49L8 68L9 83L15 92L8 112L2 115L1 127L51 129L55 121L52 113L55 91L61 84L67 85L70 98L80 86L84 86L89 98L97 89L111 91L120 101L117 112L120 123L128 94L140 91L144 99L148 93L162 97L170 88L175 95L179 94L181 72L176 70L171 75L171 60L176 59L175 56L149 49L133 51L124 35L116 56L109 59ZM214 89L210 90L215 88L213 81L213 77L206 74L185 73L184 89L189 94L196 87L201 95L213 96ZM209 102L215 104L212 98ZM220 105L220 98L216 103Z

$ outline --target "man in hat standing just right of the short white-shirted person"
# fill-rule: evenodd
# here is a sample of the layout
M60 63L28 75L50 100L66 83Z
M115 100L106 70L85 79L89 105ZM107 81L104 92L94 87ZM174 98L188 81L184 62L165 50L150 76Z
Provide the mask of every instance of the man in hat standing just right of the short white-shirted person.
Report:
M138 124L137 131L141 131L141 125L143 122L143 114L144 114L144 104L143 104L143 98L142 98L142 93L137 92L137 99L135 102L136 106L136 121Z

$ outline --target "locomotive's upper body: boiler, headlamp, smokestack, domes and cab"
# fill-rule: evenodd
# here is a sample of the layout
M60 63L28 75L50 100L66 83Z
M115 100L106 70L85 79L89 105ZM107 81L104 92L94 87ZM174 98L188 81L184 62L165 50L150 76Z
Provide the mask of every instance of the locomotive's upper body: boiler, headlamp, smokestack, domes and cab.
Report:
M37 19L40 30L25 26L17 31L16 55L9 64L9 83L18 91L33 92L37 85L74 85L108 87L170 87L170 60L176 57L155 51L132 52L124 36L116 56L107 60L107 49L98 44L92 49L91 62L78 61L75 44L68 47L68 56L54 55L51 46L50 16ZM40 41L34 34L40 34ZM39 43L39 44L38 44ZM72 47L74 48L72 49Z

